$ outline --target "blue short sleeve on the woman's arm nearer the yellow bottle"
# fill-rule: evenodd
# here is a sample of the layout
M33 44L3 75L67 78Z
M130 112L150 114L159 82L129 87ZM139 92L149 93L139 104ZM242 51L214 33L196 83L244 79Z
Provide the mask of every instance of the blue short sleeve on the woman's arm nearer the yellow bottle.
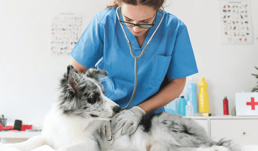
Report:
M168 78L176 79L198 73L194 51L190 42L187 27L176 37L172 58L168 69Z

